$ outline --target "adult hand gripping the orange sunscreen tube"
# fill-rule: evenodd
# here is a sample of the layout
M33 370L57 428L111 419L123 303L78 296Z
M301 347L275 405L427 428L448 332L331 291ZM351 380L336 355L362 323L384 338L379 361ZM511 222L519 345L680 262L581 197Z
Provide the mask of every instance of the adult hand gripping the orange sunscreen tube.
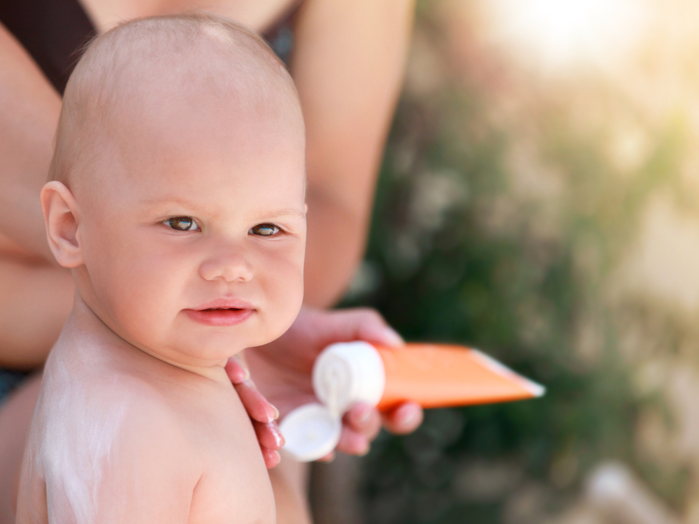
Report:
M270 344L246 349L245 360L259 391L279 407L283 416L300 405L317 401L311 383L315 358L329 344L350 340L366 340L393 347L403 345L398 333L374 310L303 308L287 333ZM253 419L259 421L256 417ZM368 405L354 405L343 418L338 451L352 455L367 453L382 421L391 432L408 433L420 425L422 409L415 402L405 402L382 415ZM258 431L259 438L262 434L264 431ZM271 440L266 437L265 442ZM333 453L324 459L332 458Z

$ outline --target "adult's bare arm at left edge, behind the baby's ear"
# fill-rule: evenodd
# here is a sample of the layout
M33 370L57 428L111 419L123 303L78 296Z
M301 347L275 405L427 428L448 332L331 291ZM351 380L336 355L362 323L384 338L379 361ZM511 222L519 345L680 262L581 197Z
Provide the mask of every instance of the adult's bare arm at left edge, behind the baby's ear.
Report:
M65 322L73 279L48 249L39 191L61 99L0 24L0 366L43 364Z

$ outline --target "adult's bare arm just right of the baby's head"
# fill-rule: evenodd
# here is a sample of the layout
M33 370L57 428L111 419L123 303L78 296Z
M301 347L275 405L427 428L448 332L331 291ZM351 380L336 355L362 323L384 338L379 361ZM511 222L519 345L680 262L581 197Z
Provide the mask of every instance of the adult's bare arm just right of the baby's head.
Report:
M306 124L305 303L333 305L361 257L403 78L412 0L305 0L291 76Z

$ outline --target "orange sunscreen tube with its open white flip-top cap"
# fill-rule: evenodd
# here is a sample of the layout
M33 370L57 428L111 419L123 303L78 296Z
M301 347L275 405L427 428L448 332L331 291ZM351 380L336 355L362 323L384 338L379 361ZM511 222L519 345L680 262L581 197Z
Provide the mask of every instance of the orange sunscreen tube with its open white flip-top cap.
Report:
M326 347L313 366L321 403L289 413L280 430L296 460L330 453L340 439L342 416L356 402L387 410L412 400L447 407L540 397L545 388L475 349L440 344L381 347L340 342Z

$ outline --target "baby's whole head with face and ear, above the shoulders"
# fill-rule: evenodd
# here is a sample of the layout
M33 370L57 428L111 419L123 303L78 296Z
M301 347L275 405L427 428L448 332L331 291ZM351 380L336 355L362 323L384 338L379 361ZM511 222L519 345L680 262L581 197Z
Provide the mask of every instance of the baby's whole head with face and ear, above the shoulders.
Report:
M152 17L96 38L42 192L57 261L117 335L208 365L281 335L303 295L304 129L251 31Z

